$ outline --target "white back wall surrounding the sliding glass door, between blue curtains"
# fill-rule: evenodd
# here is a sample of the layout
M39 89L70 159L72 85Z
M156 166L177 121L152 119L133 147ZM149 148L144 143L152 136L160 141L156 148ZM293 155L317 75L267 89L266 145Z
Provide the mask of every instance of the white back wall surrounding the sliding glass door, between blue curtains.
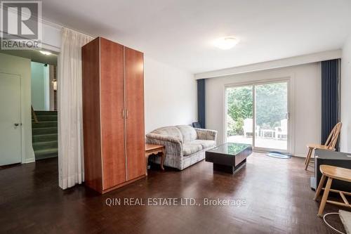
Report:
M206 79L206 128L218 131L218 143L224 141L224 87L226 84L263 81L290 77L291 79L291 153L307 154L307 143L320 139L320 65L311 63L274 70L249 72L227 77Z

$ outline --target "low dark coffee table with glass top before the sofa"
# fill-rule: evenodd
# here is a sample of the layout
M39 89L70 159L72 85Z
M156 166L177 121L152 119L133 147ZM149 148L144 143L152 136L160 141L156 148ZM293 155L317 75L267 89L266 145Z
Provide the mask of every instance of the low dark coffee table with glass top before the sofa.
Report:
M213 170L234 174L244 167L251 153L251 145L225 143L206 151L206 162L213 162Z

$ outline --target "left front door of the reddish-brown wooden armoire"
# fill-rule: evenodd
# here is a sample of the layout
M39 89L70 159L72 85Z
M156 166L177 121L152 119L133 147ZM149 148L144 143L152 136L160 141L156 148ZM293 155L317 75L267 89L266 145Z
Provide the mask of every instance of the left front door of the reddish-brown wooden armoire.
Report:
M103 189L126 182L124 152L124 46L100 38Z

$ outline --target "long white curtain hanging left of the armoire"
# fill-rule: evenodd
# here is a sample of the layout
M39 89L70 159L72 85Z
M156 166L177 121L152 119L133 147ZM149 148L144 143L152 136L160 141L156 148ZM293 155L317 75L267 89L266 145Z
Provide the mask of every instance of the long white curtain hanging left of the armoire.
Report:
M58 56L58 175L66 189L84 181L81 46L93 38L62 28Z

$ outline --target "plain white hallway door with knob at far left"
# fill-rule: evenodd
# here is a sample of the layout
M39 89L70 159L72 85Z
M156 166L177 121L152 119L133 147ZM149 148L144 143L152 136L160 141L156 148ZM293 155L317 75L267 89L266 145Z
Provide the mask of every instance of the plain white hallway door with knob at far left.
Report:
M0 72L0 166L21 162L20 76Z

